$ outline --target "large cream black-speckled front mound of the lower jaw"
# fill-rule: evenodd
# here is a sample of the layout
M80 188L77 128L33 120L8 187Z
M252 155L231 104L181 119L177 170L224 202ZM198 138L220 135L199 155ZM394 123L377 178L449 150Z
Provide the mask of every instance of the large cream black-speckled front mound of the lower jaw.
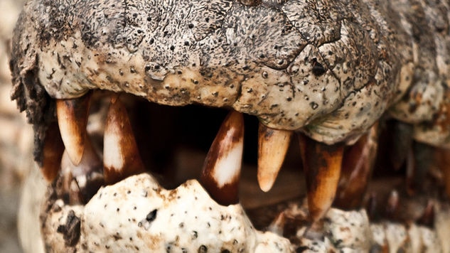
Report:
M241 205L215 203L198 181L166 190L149 174L101 188L85 206L48 195L48 252L293 252L289 239L256 230Z

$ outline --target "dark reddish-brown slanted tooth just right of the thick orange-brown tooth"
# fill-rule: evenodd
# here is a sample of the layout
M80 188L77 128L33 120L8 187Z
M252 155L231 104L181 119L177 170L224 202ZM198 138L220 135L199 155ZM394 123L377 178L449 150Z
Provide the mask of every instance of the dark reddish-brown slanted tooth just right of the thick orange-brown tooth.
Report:
M344 210L361 208L365 190L372 176L377 154L377 126L346 150L341 178L333 206Z

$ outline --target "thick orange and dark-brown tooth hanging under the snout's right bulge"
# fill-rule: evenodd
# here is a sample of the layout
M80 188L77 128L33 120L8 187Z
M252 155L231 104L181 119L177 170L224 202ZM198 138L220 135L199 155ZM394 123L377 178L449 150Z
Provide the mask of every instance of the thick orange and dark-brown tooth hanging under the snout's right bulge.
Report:
M309 215L321 219L333 203L343 157L344 144L326 145L300 135L301 159L306 177Z

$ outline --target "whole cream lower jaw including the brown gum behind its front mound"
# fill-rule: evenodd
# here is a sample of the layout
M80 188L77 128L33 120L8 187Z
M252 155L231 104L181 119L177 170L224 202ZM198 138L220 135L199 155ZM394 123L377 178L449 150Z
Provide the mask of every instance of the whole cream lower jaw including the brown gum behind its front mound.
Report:
M331 208L320 222L311 226L305 198L298 196L279 201L279 196L274 194L272 201L277 203L273 204L271 204L272 201L267 200L271 197L266 196L265 201L257 195L250 198L250 194L255 192L252 188L258 186L255 182L247 185L251 180L245 177L242 178L241 195L247 198L242 198L242 205L226 207L205 197L207 193L195 180L187 181L175 190L167 190L166 193L163 188L159 188L158 192L163 191L161 194L164 196L173 194L173 200L147 195L147 200L139 203L139 198L142 198L141 189L157 187L149 183L150 178L149 174L144 173L109 185L100 189L99 193L86 205L65 204L55 194L55 186L50 186L41 210L41 225L46 248L51 248L50 252L63 252L69 249L76 252L202 252L203 249L208 249L208 252L223 252L225 249L229 252L240 252L240 250L243 250L242 252L274 252L275 249L279 252L338 252L342 250L448 252L450 249L450 243L447 240L450 236L450 207L448 203L435 199L428 199L429 203L432 203L432 213L424 210L422 203L419 203L421 201L417 199L402 199L402 207L399 209L411 208L417 213L422 213L422 217L419 217L416 222L402 220L401 215L369 217L368 210L365 208L358 210ZM402 185L401 181L400 178L375 181L369 186L369 191L378 190L377 193L382 194L382 190L379 190L380 186L398 188ZM129 190L132 193L127 193ZM202 190L203 193L199 195L205 197L203 203L193 203L198 205L198 208L186 207L186 201L189 200L175 201L177 194L184 198L183 194ZM274 190L277 190L277 185L274 185ZM299 193L303 195L301 191ZM107 195L113 198L114 194L121 196L128 194L129 198L114 204L112 204L114 200L98 198L99 196L105 198ZM258 200L263 201L259 203ZM164 204L161 204L161 201ZM106 207L105 203L111 203L114 206ZM206 208L213 208L216 214L204 212ZM163 221L142 225L146 222L149 213L154 210L158 210L156 219ZM197 211L200 219L189 222L194 220L193 216L197 215L185 214L186 210ZM198 210L203 210L203 213ZM167 216L164 212L172 212L171 215L174 212L176 221L164 220L164 216ZM183 215L186 216L181 220L184 220L186 225L180 227L179 220ZM246 215L251 223L247 222ZM232 231L230 229L227 237L220 236L218 231L232 226L227 224L227 220L220 220L213 225L216 226L215 228L205 232L205 225L211 220L219 220L220 217L235 220L237 227L245 227L247 231L230 232ZM161 226L161 222L165 226ZM257 230L266 232L264 234L256 232L252 229L252 225ZM192 236L193 232L197 232L195 239ZM209 232L211 234L208 234Z

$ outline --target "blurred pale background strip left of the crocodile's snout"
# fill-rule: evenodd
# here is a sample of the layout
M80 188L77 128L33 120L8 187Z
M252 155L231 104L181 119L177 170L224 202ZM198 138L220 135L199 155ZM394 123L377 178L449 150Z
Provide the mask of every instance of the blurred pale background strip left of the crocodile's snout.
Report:
M0 0L0 252L22 252L17 236L21 183L31 168L33 131L11 102L9 52L24 0Z

